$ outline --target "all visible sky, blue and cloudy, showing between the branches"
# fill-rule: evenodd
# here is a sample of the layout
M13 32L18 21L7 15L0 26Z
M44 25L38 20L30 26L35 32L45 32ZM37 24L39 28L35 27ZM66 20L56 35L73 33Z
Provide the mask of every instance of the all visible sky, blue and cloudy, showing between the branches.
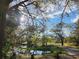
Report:
M16 5L18 4L19 0L14 0L12 3L10 3L10 7L13 6L13 5ZM23 0L20 0L20 1L23 1ZM53 24L55 23L59 23L61 18L60 18L60 15L63 11L63 7L65 6L65 0L62 0L62 2L60 1L59 2L60 4L60 7L59 6L56 6L56 5L53 5L51 3L47 3L47 4L41 4L42 7L41 7L41 10L45 10L45 14L42 14L44 17L46 17L48 19L48 21L46 22L46 26L47 26L47 33L50 33L50 29L53 28ZM67 24L72 24L72 23L75 23L77 22L77 20L79 19L79 14L78 14L78 11L77 11L77 5L74 4L74 2L71 3L72 6L70 6L71 10L69 7L66 8L65 12L68 13L68 15L64 15L63 17L63 22L67 23ZM34 6L30 5L28 6L28 9L30 11L30 13L34 13L34 14L37 14L37 9L34 9ZM20 10L23 10L23 7L20 7ZM25 12L22 12L24 14L26 14ZM27 15L28 16L28 15ZM33 15L35 16L35 15ZM21 27L23 27L23 24L25 22L27 22L26 20L27 17L25 17L24 15L22 15L20 17L20 22L21 22ZM36 19L41 19L42 16L40 15L40 12L38 12L38 16L36 17ZM30 20L31 21L31 20ZM70 31L68 30L68 28L64 28L64 33L66 34L66 36L68 36L70 33Z

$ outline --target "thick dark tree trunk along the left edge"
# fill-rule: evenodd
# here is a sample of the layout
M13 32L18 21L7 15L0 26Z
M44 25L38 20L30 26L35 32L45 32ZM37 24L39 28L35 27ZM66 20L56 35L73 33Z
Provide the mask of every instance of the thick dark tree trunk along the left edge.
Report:
M0 0L0 59L3 59L3 47L5 46L5 21L9 0Z

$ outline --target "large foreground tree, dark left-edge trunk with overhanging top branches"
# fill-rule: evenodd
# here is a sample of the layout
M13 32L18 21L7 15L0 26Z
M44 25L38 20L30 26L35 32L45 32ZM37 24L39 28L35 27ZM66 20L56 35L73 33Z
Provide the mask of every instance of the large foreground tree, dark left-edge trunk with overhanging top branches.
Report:
M30 0L31 3L25 5L24 2L27 2L29 0L24 0L22 2L19 2L18 4L12 6L11 8L9 8L9 10L11 9L18 9L19 6L23 6L27 9L27 13L29 14L29 16L31 17L31 19L33 20L33 15L28 11L28 8L27 6L32 4L32 5L35 5L35 7L37 9L40 10L40 7L43 6L41 5L41 3L47 3L48 1L47 0L36 0L36 1L32 1ZM45 2L47 1L47 2ZM50 0L52 2L56 2L55 0ZM11 0L0 0L0 58L2 59L3 57L3 52L2 52L2 49L4 47L4 43L5 43L5 22L6 22L6 12L8 10L8 5L9 3L11 2ZM56 4L56 3L55 3ZM40 10L41 11L41 10ZM42 11L41 11L42 12ZM40 12L39 12L40 13ZM43 18L44 19L44 18Z

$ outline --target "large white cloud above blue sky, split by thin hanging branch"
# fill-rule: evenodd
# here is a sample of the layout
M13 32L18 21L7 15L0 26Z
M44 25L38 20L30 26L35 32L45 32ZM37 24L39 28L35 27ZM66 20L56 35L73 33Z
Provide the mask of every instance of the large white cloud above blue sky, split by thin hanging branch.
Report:
M51 3L47 3L41 9L45 10L44 17L55 18L55 16L59 16L63 12L64 6L65 6L65 0L63 0L61 6L54 5L54 4L51 4ZM72 3L72 6L70 6L70 8L67 7L66 10L65 10L65 12L71 13L72 11L77 10L76 7L77 6ZM40 16L38 18L40 18Z

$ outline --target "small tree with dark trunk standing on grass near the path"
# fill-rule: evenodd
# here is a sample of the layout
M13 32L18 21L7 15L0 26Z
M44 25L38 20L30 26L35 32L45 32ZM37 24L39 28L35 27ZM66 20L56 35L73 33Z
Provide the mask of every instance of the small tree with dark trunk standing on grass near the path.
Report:
M61 40L62 46L64 43L64 36L63 36L63 30L62 30L61 26L63 26L63 25L64 24L58 23L54 26L54 29L51 30L55 34L56 38Z

